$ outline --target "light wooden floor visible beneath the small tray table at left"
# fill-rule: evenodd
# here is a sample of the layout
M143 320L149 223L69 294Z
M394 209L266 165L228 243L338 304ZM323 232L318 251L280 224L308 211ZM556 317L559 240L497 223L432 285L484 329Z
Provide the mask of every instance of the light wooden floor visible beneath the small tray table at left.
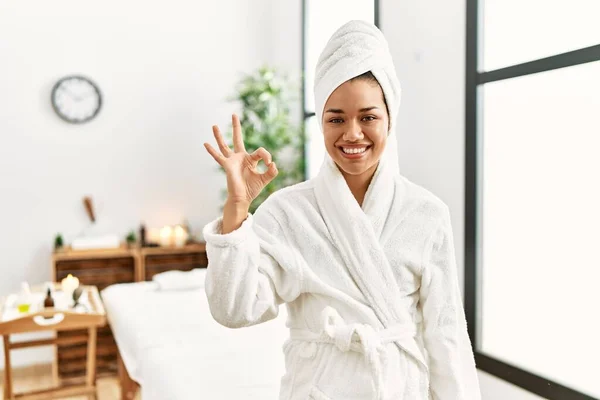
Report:
M13 390L15 393L23 391L39 390L52 387L52 369L50 365L36 365L32 367L16 369L13 371ZM0 371L0 394L3 393L2 386L4 377ZM67 398L63 398L67 399ZM87 396L68 397L69 400L88 400ZM98 400L120 400L121 389L119 381L114 378L98 379ZM136 397L139 400L140 396Z

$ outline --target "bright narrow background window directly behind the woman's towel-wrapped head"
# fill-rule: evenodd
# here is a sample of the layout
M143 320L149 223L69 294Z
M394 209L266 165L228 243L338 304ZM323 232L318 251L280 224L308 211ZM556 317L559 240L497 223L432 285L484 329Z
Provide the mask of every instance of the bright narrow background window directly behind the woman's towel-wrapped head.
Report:
M304 0L302 34L302 103L306 132L306 175L317 175L325 156L322 134L315 119L314 73L321 50L340 26L354 19L378 24L377 0Z

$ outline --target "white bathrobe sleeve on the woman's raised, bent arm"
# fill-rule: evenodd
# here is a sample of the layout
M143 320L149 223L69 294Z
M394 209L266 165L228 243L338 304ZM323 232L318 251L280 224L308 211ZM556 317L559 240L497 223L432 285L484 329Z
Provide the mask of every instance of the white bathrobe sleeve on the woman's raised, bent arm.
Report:
M266 203L233 232L221 234L222 217L203 229L210 311L217 322L230 328L273 319L281 303L293 301L300 293L301 270L294 251Z

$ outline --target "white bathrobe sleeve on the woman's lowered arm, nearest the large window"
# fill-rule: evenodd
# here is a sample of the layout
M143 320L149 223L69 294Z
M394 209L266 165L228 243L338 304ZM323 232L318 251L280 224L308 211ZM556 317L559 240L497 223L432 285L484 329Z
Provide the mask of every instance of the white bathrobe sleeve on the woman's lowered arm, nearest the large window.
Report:
M433 400L479 400L447 206L425 247L419 295Z

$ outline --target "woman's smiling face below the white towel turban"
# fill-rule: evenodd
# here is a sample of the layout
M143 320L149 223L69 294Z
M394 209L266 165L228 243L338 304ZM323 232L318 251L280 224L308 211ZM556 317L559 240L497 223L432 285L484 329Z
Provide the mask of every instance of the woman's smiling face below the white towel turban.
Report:
M323 112L327 152L345 176L372 176L385 149L389 117L376 80L344 82Z

